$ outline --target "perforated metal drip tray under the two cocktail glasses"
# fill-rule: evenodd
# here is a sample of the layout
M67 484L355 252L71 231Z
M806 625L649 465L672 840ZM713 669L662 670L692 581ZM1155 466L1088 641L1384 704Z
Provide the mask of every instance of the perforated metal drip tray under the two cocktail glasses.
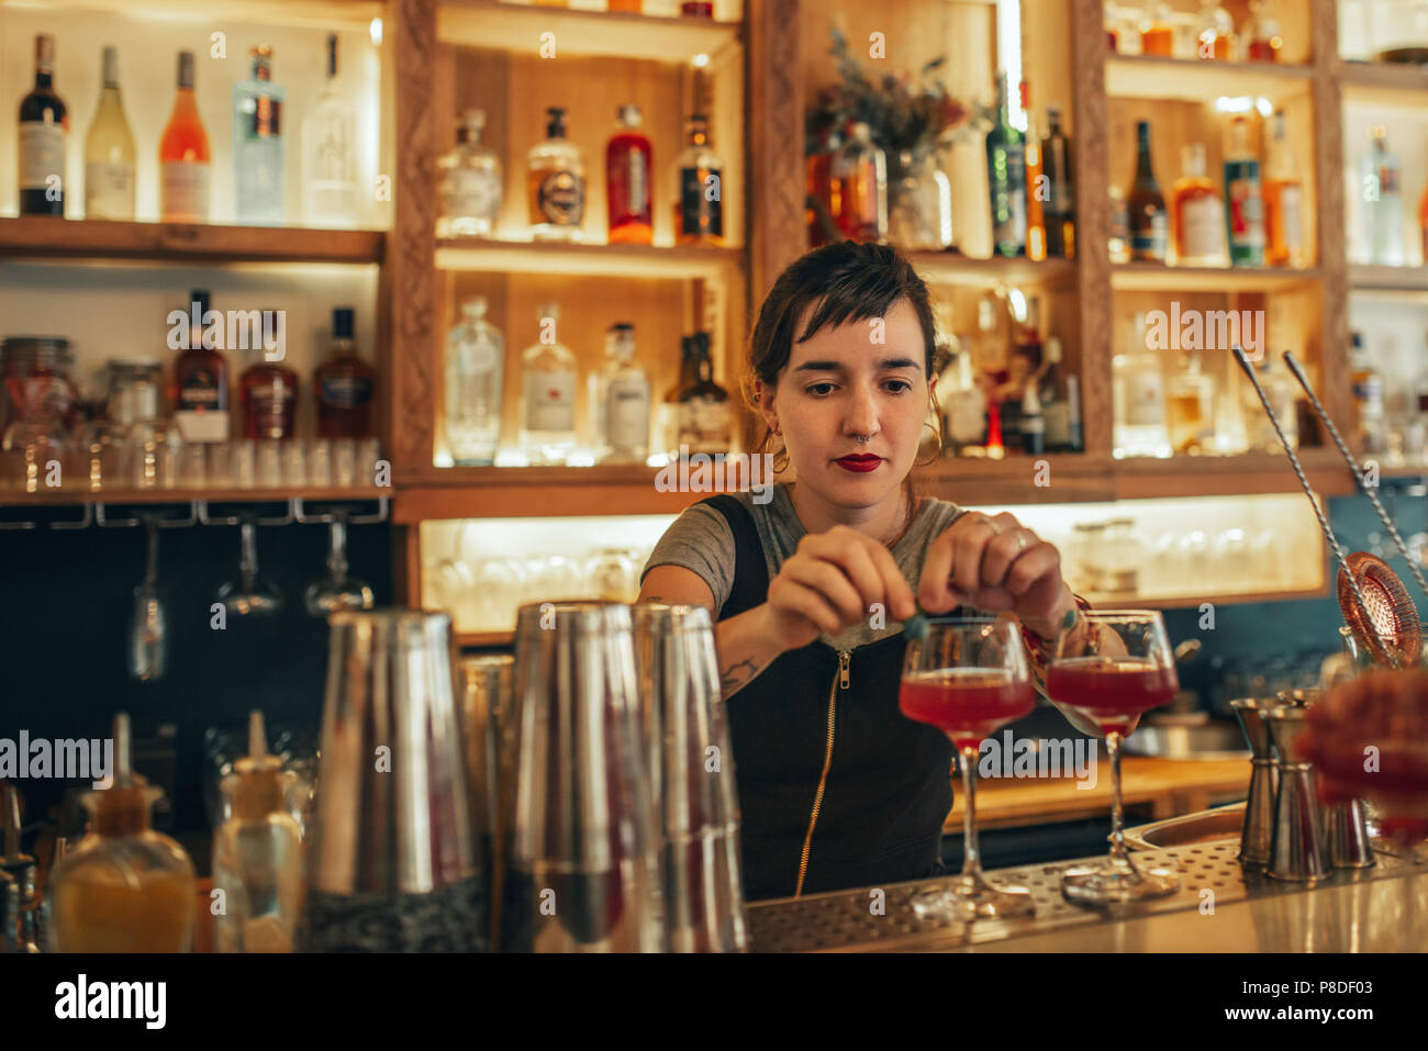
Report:
M1104 908L1082 908L1061 897L1061 874L1077 864L1097 858L1061 861L1054 865L1005 868L988 873L994 884L1027 887L1037 905L1034 917L1015 920L927 921L912 912L910 897L924 888L940 887L944 880L920 880L890 884L878 910L878 888L831 891L803 898L778 898L748 905L750 950L754 952L897 952L937 951L977 945L1030 934L1100 924L1107 920L1131 920L1162 912L1197 910L1202 891L1215 894L1217 905L1277 894L1309 890L1305 884L1271 880L1257 870L1242 870L1235 860L1240 843L1191 844L1164 850L1137 851L1137 865L1174 861L1180 867L1180 890L1167 898ZM1372 868L1334 870L1317 888L1392 878L1412 870L1412 864L1379 853Z

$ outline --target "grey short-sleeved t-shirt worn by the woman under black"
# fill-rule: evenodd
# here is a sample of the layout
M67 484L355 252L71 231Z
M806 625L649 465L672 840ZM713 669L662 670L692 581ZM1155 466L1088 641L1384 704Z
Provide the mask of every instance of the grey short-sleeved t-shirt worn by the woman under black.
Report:
M798 520L798 513L788 497L788 487L775 481L773 498L764 504L754 503L753 493L733 493L731 496L744 504L754 517L758 541L764 547L764 564L768 568L768 578L773 580L778 575L784 561L798 548L798 541L808 533ZM914 597L922 578L922 560L928 544L941 535L942 530L951 526L961 513L962 508L957 504L927 497L912 516L912 524L908 526L907 533L892 545L892 558L912 588ZM685 508L660 537L660 543L654 545L654 553L640 574L641 583L644 574L655 565L683 565L695 573L714 593L714 611L717 614L734 590L734 533L723 514L708 504L694 504ZM902 623L890 617L887 624L878 630L873 630L864 621L837 635L821 633L818 638L835 650L851 650L894 635L901 630Z

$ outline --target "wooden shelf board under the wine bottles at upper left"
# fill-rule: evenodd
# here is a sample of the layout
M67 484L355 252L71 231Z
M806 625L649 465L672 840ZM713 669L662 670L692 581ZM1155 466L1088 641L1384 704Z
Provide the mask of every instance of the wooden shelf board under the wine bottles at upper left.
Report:
M0 258L153 263L381 263L381 230L0 218Z

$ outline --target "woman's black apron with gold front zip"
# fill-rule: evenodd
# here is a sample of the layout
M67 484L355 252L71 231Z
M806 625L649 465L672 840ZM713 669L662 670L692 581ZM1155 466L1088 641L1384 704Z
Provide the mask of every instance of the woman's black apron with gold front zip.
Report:
M725 620L767 601L768 568L744 504L728 494L701 503L734 533L734 587L718 611ZM814 641L780 654L725 703L747 900L795 892L820 781L803 894L942 871L955 750L942 731L898 710L904 648L900 631L845 651L844 678L840 654Z

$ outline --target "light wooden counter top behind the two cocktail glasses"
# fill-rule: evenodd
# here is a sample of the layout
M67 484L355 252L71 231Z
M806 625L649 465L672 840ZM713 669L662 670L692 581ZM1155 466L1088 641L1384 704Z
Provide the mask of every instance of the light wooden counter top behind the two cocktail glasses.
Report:
M977 827L1021 828L1052 821L1080 821L1111 814L1111 764L1098 755L1094 787L1075 778L980 778ZM962 831L961 774L952 783L957 800L944 835ZM1087 783L1090 784L1090 781ZM1161 821L1208 810L1218 803L1242 800L1250 791L1248 760L1157 760L1127 755L1121 760L1121 800L1137 820Z

